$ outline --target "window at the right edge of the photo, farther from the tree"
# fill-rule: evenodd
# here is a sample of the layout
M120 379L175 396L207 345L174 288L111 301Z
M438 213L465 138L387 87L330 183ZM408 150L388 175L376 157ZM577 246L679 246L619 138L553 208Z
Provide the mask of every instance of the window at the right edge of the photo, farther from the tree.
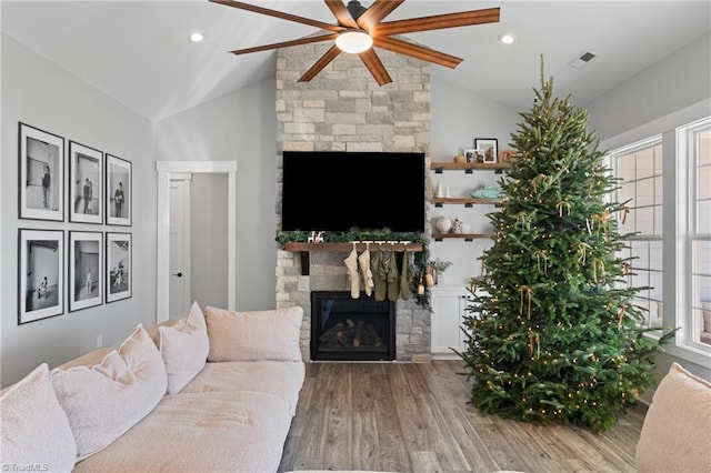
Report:
M711 118L677 130L679 155L679 249L685 293L679 304L681 343L691 349L711 349Z

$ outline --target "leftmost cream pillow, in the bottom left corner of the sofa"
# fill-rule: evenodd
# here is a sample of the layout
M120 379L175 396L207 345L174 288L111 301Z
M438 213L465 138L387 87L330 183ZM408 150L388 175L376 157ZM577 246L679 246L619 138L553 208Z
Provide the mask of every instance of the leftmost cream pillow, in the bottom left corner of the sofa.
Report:
M37 464L47 471L68 472L74 466L77 443L57 402L47 363L2 392L0 425L3 471Z

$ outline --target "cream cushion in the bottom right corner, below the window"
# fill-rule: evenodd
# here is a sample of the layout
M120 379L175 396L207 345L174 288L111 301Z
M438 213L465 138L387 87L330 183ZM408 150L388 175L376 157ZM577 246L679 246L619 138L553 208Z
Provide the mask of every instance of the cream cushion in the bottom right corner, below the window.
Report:
M711 471L711 383L672 363L647 411L637 444L644 472Z

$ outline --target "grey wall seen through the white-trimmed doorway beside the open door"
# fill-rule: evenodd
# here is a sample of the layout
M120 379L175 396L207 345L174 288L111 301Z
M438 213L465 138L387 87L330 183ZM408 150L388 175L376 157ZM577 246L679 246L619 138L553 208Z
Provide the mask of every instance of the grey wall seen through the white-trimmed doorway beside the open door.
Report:
M201 308L228 306L227 174L192 174L190 269L192 300Z

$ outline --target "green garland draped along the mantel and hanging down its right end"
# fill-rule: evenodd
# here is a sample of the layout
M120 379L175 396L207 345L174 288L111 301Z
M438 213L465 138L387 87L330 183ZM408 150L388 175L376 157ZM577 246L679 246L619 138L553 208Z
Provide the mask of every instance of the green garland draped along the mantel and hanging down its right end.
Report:
M292 231L292 232L278 232L277 242L283 245L287 242L308 242L311 232ZM430 289L424 283L424 273L428 269L428 262L430 260L429 240L423 233L395 233L389 230L382 231L359 231L351 230L349 232L322 232L324 243L350 243L351 241L410 241L411 243L420 243L422 251L414 253L414 276L410 280L410 290L417 298L417 304L423 308L431 309L430 306ZM418 293L418 285L424 284L424 292Z

